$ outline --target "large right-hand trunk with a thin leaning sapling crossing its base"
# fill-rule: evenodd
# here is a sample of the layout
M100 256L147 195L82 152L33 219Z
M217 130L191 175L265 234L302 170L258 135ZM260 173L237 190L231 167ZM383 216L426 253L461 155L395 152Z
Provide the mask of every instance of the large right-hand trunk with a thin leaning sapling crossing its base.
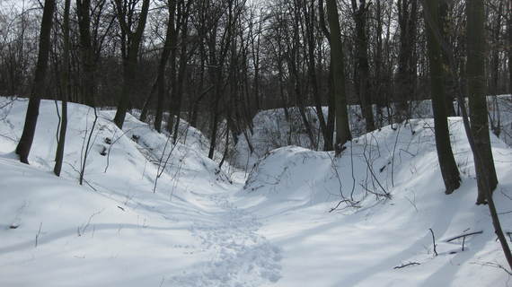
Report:
M486 203L486 190L489 194L497 187L498 178L494 168L492 152L490 150L489 123L487 119L487 101L485 99L485 39L484 35L484 8L481 0L468 0L467 14L467 66L466 76L468 82L468 96L471 117L472 135L474 135L475 148L480 158L475 158L475 170L478 180L477 204ZM486 173L486 175L483 175ZM488 180L484 182L484 180Z

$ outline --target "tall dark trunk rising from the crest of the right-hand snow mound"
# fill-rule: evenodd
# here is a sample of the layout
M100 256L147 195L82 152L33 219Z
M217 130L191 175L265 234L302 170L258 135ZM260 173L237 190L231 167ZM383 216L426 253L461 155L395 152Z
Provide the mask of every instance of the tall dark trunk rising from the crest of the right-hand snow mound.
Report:
M345 93L345 68L343 48L341 46L340 20L336 0L327 0L327 19L331 28L331 68L333 93L336 109L336 140L334 150L340 155L343 144L351 140L347 98Z

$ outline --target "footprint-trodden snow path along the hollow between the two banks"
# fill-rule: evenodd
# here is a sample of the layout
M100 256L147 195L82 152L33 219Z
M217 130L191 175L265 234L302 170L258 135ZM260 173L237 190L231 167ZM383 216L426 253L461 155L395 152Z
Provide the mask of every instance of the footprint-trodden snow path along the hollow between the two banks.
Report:
M212 204L216 222L194 222L190 228L206 262L172 278L177 286L260 286L275 283L281 275L281 250L257 234L261 224L228 201L226 193L204 196Z

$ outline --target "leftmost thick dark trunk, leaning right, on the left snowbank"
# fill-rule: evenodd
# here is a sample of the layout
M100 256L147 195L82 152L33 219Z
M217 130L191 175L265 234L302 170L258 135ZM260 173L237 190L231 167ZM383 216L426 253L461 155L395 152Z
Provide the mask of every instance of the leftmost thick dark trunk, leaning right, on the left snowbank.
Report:
M49 39L54 11L55 0L45 0L40 28L38 63L36 65L34 82L32 83L31 100L29 100L29 107L27 108L27 114L25 116L22 137L20 138L18 146L16 146L16 153L20 156L20 161L27 164L29 163L29 153L31 152L31 146L38 123L40 99L46 90L45 78L48 69Z

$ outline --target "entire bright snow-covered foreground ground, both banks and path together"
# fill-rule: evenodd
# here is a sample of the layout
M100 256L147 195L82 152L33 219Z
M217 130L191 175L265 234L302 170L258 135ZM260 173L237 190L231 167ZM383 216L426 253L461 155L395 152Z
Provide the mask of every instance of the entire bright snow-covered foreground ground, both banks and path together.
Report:
M13 154L26 104L0 98L0 286L512 285L488 209L474 205L459 118L450 131L463 185L451 196L429 119L361 135L339 159L282 147L244 177L207 159L198 130L173 145L129 115L120 131L111 110L99 111L82 187L93 110L70 104L57 178L53 101L41 103L31 166ZM512 150L491 136L508 231ZM330 213L343 198L353 206Z

